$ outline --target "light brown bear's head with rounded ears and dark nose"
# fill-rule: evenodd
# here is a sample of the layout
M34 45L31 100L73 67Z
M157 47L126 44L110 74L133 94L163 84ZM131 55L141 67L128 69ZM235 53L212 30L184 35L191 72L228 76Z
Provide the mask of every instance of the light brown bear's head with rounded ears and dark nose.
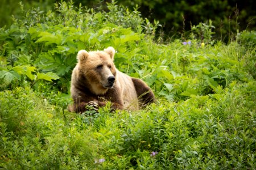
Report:
M77 54L79 71L86 78L88 88L96 95L104 95L115 84L116 69L114 65L115 49L112 46L103 51Z

